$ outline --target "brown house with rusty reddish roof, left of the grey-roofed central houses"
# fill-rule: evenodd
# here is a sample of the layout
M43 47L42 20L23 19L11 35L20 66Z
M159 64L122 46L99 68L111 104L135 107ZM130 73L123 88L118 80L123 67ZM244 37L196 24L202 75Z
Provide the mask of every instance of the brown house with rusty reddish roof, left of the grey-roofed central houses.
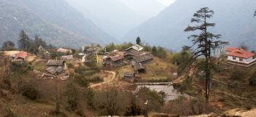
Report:
M124 56L116 55L116 56L105 56L103 57L103 65L105 66L120 66L124 64Z

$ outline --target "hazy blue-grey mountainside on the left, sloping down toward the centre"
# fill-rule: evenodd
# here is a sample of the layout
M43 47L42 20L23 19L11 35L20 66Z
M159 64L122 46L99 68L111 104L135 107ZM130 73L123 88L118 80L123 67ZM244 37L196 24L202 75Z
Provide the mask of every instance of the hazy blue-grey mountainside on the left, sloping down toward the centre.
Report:
M64 0L0 0L0 4L0 43L17 41L21 29L61 47L114 41Z

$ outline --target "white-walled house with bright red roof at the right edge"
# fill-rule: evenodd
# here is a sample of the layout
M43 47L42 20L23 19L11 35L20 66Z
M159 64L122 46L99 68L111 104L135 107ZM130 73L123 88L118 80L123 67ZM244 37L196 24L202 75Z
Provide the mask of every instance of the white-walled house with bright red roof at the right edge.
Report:
M247 52L244 49L235 47L227 47L225 51L227 55L227 61L231 65L250 67L256 63L256 59L254 58L255 54L252 52Z

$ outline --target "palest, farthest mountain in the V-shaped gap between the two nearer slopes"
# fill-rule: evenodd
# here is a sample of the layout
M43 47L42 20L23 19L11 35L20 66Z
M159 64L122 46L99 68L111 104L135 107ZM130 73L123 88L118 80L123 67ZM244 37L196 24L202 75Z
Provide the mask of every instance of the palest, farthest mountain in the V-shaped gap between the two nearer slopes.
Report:
M156 0L66 0L103 31L120 39L164 8ZM144 2L143 2L144 1ZM148 13L150 12L150 13ZM151 13L153 12L153 14Z

